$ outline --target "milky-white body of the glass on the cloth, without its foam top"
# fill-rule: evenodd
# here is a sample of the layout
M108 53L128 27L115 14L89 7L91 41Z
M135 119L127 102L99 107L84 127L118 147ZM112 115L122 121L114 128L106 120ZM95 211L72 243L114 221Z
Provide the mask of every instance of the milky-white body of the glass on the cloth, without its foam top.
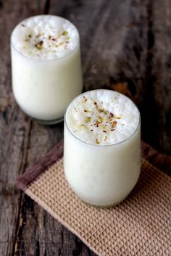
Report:
M75 99L72 102L74 101ZM136 106L135 108L137 109ZM122 202L130 194L141 170L139 111L138 116L138 127L124 141L110 145L94 145L81 141L70 131L66 112L64 174L80 199L91 205L109 206Z

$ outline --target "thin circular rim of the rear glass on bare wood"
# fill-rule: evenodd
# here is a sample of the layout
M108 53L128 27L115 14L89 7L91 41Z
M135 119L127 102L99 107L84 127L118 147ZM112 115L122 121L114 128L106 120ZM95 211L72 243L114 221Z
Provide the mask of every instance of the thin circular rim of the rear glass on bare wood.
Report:
M28 20L28 19L30 19L30 18L32 18L32 17L41 17L41 16L43 16L43 17L45 17L45 16L58 17L58 18L61 19L61 20L66 20L67 22L70 22L70 24L75 28L76 32L78 33L78 41L77 41L77 44L75 45L75 48L72 49L72 51L68 52L66 55L64 55L64 56L62 56L62 57L56 57L56 58L54 58L54 59L36 59L36 58L34 58L34 57L29 57L29 56L27 56L27 55L25 55L25 54L22 54L22 53L14 46L13 41L12 41L12 36L13 36L14 30L17 28L17 26L20 25L22 22L25 22L25 20ZM11 36L10 36L10 43L11 43L11 47L12 47L15 51L17 51L18 54L20 54L22 57L24 57L24 58L26 58L26 59L34 60L34 61L36 61L36 62L53 62L53 61L57 61L58 59L64 59L65 57L68 57L70 54L72 54L72 53L75 51L75 49L77 49L77 47L78 47L79 44L80 44L80 34L79 34L79 32L78 32L78 29L75 27L75 25L74 25L70 20L67 20L67 19L65 19L64 17L58 16L58 15L35 15L35 16L28 17L28 18L26 18L25 20L20 21L17 25L14 26L14 28L13 28L13 30L12 30L12 33L11 33Z

